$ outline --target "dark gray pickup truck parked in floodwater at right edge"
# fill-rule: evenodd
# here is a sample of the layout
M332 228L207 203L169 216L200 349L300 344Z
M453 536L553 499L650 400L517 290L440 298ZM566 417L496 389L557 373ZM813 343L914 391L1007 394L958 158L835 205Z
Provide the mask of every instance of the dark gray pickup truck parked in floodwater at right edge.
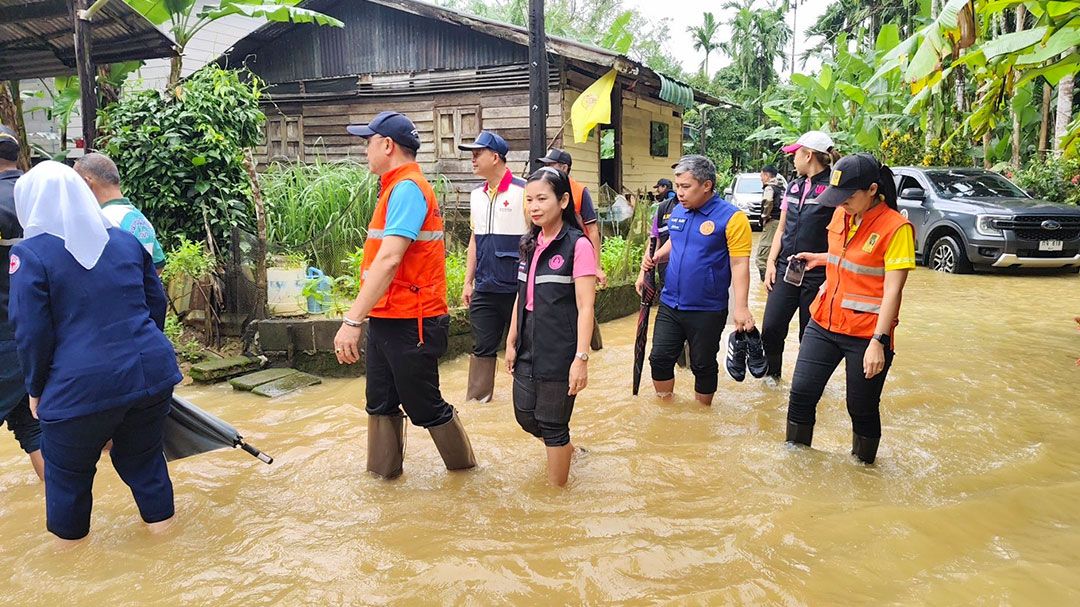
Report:
M928 268L1070 268L1080 272L1080 207L1034 199L982 168L902 166L900 212Z

